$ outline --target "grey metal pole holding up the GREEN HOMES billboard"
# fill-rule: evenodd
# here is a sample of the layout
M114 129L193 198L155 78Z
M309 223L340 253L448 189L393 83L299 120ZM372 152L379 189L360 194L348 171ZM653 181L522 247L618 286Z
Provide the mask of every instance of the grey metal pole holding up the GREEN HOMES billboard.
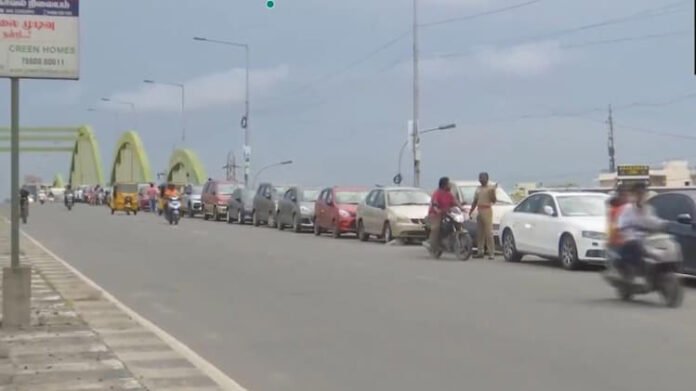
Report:
M11 129L10 129L10 191L12 199L10 246L12 269L19 267L19 78L10 79Z

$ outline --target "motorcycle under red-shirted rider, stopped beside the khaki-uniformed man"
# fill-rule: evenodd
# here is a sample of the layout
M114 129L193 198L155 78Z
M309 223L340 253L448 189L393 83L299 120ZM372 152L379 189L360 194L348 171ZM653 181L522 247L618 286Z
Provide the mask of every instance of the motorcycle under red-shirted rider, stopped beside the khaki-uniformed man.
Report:
M465 221L466 217L461 208L450 208L440 224L440 250L434 251L426 244L428 253L435 259L439 259L443 252L453 253L457 259L462 261L471 258L474 241L469 235L469 231L464 228ZM429 226L426 226L426 235L430 237Z

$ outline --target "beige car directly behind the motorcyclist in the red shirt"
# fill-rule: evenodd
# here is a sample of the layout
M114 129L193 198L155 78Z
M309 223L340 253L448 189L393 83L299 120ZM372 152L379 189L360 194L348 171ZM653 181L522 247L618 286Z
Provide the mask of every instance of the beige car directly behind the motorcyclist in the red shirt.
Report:
M413 187L376 188L367 194L357 209L358 238L425 239L425 218L430 208L430 194Z

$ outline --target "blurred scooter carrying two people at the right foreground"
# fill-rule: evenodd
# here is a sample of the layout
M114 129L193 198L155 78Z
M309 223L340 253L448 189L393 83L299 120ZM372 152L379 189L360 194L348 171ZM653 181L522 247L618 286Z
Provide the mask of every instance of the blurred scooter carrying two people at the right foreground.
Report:
M682 251L672 235L658 233L648 236L643 243L645 256L637 267L619 270L619 255L609 252L604 279L616 289L621 300L629 301L634 295L659 292L668 307L679 307L684 291L677 277L682 263ZM622 268L624 269L624 268Z

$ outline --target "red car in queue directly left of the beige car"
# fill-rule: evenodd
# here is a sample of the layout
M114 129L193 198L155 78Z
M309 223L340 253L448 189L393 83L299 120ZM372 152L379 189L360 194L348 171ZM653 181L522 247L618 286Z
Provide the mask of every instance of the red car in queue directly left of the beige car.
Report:
M314 205L314 234L331 232L334 238L355 233L355 212L367 194L362 187L329 187Z

